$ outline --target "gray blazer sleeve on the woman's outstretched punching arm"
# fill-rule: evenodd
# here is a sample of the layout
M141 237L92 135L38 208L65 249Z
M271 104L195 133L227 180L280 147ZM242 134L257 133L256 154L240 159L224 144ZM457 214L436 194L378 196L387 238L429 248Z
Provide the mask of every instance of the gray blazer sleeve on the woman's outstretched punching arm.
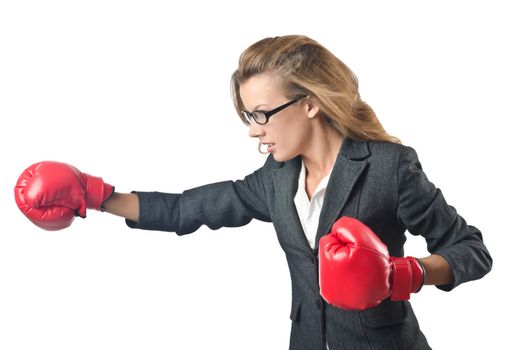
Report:
M216 230L243 226L252 219L270 222L263 182L265 166L242 180L212 183L183 193L134 191L139 198L139 219L126 220L126 224L184 235L202 225Z

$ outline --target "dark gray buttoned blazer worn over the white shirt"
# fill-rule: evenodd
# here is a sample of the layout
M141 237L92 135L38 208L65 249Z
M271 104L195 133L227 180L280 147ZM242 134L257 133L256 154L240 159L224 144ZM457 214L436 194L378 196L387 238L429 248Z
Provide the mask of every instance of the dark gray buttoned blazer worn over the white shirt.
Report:
M303 232L293 198L300 157L265 164L243 180L223 181L181 194L136 192L138 222L133 228L176 232L201 225L243 226L252 219L272 222L286 253L292 279L290 349L429 349L408 301L386 300L364 311L347 311L327 304L319 294L318 242L341 216L357 218L387 245L392 256L403 256L405 231L426 239L430 253L443 256L454 282L437 286L449 291L481 278L492 259L481 232L448 205L440 189L422 171L408 146L345 138L324 197L315 250Z

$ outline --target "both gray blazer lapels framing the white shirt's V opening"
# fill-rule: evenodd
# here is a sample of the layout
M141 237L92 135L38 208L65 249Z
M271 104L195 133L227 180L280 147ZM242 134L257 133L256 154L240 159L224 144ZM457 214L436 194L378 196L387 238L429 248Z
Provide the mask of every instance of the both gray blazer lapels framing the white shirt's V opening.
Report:
M368 141L354 141L348 137L343 139L321 208L315 240L316 253L319 239L330 232L332 225L339 218L354 184L366 167L366 158L369 155ZM273 182L281 207L280 220L293 231L292 234L298 236L296 238L299 248L311 250L293 201L297 193L300 170L301 157L297 156L273 170Z

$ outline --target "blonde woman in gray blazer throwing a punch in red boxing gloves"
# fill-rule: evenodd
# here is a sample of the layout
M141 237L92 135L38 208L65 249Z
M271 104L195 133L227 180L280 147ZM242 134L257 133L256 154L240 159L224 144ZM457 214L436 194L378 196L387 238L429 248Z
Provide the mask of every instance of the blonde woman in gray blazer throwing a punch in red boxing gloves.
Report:
M393 263L384 280L347 265L359 279L346 298L369 298L370 290L381 288L383 300L351 309L321 297L328 290L319 284L320 239L335 233L340 218L359 220L364 231L344 228L358 235L353 239L374 232L369 239L376 241L374 249L387 250L386 261L414 262L408 295L422 284L449 291L489 272L492 259L480 231L427 180L416 152L385 132L361 100L353 72L314 40L291 35L253 44L232 76L232 94L249 135L259 140L259 152L270 153L243 180L181 194L124 194L72 166L41 162L15 187L19 207L45 229L67 227L75 215L85 217L87 208L124 217L133 228L179 235L201 225L273 222L292 278L290 349L429 349L408 296L395 298ZM406 230L425 237L429 257L401 258ZM339 281L337 289L349 281L336 276L330 280Z

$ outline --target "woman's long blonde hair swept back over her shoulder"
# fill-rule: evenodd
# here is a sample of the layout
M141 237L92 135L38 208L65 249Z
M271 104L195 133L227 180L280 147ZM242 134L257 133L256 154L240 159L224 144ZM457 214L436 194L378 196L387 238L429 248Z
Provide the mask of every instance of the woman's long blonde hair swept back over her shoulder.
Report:
M231 95L242 121L246 122L240 85L265 72L280 75L287 98L309 96L319 106L320 116L340 134L354 140L401 143L387 134L376 113L361 100L354 72L328 49L303 35L265 38L242 52L231 77Z

